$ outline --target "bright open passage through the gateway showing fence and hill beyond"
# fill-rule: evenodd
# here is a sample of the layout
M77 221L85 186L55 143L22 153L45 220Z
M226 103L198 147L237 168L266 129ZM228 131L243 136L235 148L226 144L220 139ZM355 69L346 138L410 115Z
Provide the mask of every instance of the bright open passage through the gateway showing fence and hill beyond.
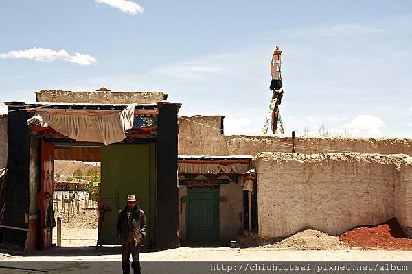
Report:
M61 219L62 247L96 245L99 188L100 162L54 161L54 216L56 225ZM54 243L57 236L54 227Z

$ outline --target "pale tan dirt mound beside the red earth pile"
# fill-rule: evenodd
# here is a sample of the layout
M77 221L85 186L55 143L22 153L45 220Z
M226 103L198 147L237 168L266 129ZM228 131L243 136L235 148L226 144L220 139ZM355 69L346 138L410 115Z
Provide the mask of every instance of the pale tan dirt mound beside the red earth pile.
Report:
M330 236L318 230L308 229L303 232L298 232L281 242L269 245L268 247L297 250L329 250L343 249L345 245L338 237Z

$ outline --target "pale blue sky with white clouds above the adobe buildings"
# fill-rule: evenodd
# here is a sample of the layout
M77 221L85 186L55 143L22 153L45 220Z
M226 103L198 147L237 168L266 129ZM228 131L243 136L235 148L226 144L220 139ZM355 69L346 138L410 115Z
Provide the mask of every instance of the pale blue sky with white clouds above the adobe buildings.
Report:
M412 1L13 0L0 25L1 102L162 90L259 134L280 45L286 136L412 137Z

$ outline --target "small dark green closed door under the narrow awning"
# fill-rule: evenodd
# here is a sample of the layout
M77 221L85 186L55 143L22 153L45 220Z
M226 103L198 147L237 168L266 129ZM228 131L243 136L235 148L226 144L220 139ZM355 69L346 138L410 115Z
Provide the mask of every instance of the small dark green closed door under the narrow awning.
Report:
M219 239L219 190L187 189L187 240L217 242Z

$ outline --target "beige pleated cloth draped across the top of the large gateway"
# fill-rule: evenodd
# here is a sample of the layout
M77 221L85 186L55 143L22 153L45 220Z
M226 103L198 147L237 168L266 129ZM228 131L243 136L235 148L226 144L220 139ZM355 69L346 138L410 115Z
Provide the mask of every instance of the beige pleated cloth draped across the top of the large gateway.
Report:
M37 123L42 127L52 127L56 132L76 141L98 142L104 145L121 142L125 132L133 127L135 105L126 105L124 110L113 114L95 111L76 110L36 110L27 123Z

